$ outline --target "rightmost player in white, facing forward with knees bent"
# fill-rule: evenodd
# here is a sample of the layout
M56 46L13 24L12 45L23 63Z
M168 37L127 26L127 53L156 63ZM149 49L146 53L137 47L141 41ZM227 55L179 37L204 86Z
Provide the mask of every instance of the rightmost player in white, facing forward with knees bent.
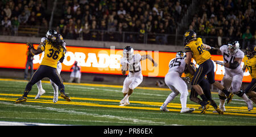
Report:
M221 61L214 61L217 64L225 67L225 75L222 78L221 84L227 89L230 89L232 93L241 97L248 107L248 110L253 109L253 102L242 92L241 85L243 79L243 70L241 63L244 57L244 53L239 49L240 44L238 41L231 41L228 45L222 45L220 47L221 54L223 56L224 63ZM219 90L218 96L220 97L220 109L225 111L225 94Z

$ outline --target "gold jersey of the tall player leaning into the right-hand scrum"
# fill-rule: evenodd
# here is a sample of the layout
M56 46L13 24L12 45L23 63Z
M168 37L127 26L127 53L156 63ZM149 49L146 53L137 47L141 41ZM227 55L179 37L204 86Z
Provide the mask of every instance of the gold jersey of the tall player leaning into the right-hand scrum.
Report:
M195 59L196 64L202 64L204 61L210 59L210 52L205 50L203 45L203 41L201 38L197 38L196 40L190 41L184 47L185 52L192 52L192 57Z

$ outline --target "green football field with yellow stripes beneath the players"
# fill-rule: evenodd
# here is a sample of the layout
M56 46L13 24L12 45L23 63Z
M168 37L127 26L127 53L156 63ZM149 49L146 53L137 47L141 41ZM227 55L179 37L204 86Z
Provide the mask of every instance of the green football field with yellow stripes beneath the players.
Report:
M72 101L59 97L52 102L53 89L49 81L42 81L46 93L34 99L38 89L32 87L26 102L14 103L22 96L28 81L0 78L0 124L38 123L53 125L88 126L163 126L163 125L256 125L256 109L247 111L241 98L234 96L226 106L224 115L213 113L210 106L206 114L200 114L199 105L189 100L193 113L181 114L179 96L168 105L169 112L159 111L171 91L167 88L138 87L130 97L129 106L119 106L123 98L122 86L104 84L66 83L65 93ZM219 103L218 94L212 93Z

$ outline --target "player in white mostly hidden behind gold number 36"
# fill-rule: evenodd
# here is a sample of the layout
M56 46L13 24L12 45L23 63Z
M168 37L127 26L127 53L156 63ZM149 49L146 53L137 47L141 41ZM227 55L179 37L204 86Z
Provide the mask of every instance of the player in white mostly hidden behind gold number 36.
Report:
M57 32L55 31L54 34L57 34ZM49 34L49 31L48 31L47 34L46 34L46 37L43 37L43 38L41 39L41 42L40 42L40 44L38 45L38 48L42 47L42 44L44 43L44 41L47 39L47 37L48 37L49 35L51 35L51 34ZM60 42L60 43L63 43L63 47L66 47L66 43L65 43L65 41L63 40L62 36L60 36L60 40L61 40L61 41L59 41L59 42ZM67 49L66 49L66 51L67 51ZM58 61L58 63L57 63L57 68L56 68L57 73L60 74L61 68L62 68L62 65L61 65L60 61ZM54 91L54 94L53 94L53 103L56 103L56 102L58 101L58 97L59 97L59 93L58 93L59 88L58 88L58 86L57 86L54 82L52 82L51 80L50 80L50 82L51 82L51 85L52 85L52 88L53 88L53 91ZM36 82L36 86L38 86L38 94L36 95L35 99L38 99L38 98L40 98L44 93L46 93L46 90L43 89L41 80L38 81L38 82Z

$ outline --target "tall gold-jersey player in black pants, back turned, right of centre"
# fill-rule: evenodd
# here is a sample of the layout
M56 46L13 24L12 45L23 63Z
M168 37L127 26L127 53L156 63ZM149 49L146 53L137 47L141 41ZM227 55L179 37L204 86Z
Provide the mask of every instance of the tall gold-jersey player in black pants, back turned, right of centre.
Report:
M196 38L196 33L192 30L185 32L183 41L185 45L184 51L187 52L187 59L185 59L185 62L188 67L190 67L192 58L195 59L197 64L199 64L199 68L196 70L195 74L193 74L191 85L203 99L203 110L206 110L209 107L209 101L207 97L205 97L203 89L199 85L205 75L207 75L207 80L210 84L213 84L226 94L229 103L234 95L229 93L224 86L220 84L220 82L214 80L214 64L210 59L210 52L206 50L211 49L212 47L204 44L201 38Z

